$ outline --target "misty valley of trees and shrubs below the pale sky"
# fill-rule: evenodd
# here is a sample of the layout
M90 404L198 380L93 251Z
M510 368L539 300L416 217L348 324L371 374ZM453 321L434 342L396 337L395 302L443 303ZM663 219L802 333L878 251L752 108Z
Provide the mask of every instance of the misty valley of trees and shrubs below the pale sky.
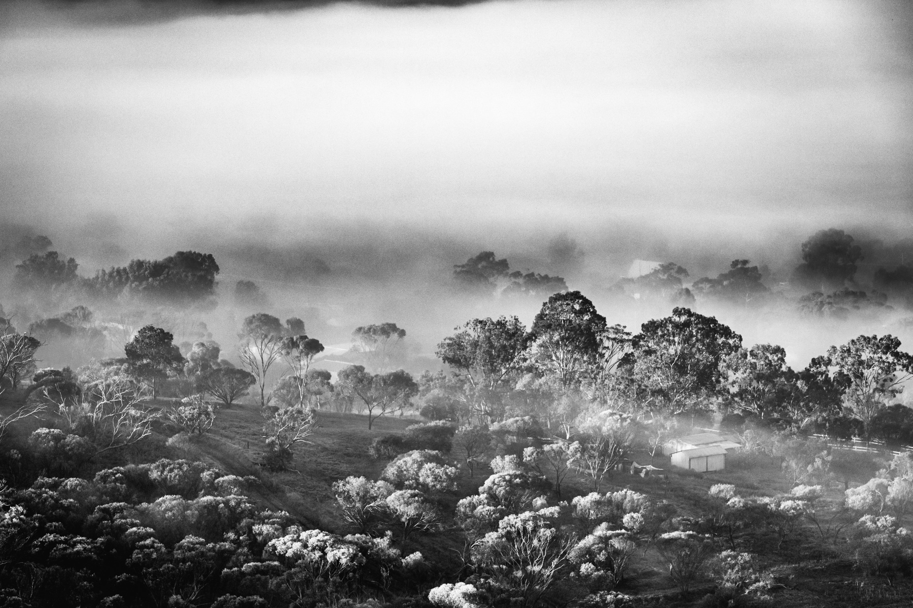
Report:
M842 230L773 285L637 260L604 314L480 252L440 293L536 312L426 326L433 356L426 320L328 325L210 253L52 247L6 250L2 606L913 602L913 267L858 272ZM791 366L715 306L879 331Z

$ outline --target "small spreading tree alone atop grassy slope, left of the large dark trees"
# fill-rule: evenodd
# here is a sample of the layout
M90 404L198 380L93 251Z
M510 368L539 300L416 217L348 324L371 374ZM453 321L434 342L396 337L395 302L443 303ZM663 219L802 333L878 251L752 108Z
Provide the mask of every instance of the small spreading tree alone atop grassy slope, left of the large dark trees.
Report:
M361 400L368 410L368 429L374 420L404 409L409 399L418 393L415 380L400 369L389 374L371 375L364 366L348 366L339 373L337 385L342 392Z

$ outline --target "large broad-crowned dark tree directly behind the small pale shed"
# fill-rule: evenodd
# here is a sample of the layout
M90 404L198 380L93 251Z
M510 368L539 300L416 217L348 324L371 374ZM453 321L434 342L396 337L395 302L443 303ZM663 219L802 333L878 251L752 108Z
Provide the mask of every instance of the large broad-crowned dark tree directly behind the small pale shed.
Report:
M741 336L715 317L677 307L641 325L634 345L635 380L653 403L676 414L718 392L719 364L740 348Z

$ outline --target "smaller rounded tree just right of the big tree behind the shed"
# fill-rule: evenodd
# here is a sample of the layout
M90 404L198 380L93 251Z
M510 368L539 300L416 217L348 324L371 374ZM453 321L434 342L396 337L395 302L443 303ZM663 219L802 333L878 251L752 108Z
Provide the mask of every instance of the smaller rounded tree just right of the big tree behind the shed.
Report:
M725 359L729 392L738 407L757 417L776 414L792 393L795 374L778 345L740 348Z

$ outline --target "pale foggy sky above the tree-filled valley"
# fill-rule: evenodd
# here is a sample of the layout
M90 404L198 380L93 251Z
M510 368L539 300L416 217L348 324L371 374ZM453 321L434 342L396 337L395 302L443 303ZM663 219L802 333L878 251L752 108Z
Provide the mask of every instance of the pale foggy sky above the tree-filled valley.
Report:
M832 225L900 237L905 4L11 12L0 206L95 263L236 238L363 246L397 224L419 255L438 239L533 255L567 232L625 268L694 242L774 259L785 239L794 257Z

